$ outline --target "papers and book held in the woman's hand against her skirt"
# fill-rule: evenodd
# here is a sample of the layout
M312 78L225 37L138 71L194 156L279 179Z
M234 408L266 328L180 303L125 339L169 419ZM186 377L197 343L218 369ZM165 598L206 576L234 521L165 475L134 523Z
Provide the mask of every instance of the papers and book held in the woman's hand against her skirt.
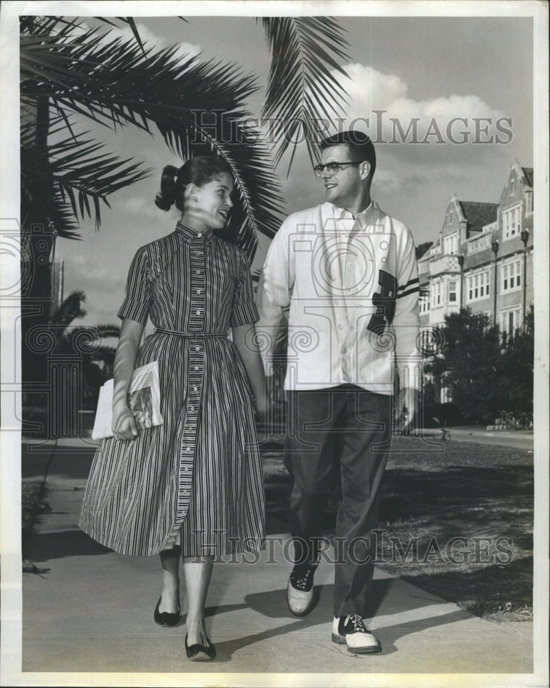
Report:
M98 398L98 409L92 440L113 437L113 385L114 380L107 380L101 387ZM143 430L164 422L160 413L160 384L157 361L136 368L130 380L128 408L135 418L137 429Z

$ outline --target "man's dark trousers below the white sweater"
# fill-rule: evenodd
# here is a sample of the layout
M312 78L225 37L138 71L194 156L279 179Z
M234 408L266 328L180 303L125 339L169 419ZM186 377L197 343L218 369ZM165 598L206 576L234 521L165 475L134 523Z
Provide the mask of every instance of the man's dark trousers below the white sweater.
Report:
M285 466L295 562L315 561L327 499L340 473L334 615L362 614L373 579L380 484L391 440L391 402L355 385L289 392Z

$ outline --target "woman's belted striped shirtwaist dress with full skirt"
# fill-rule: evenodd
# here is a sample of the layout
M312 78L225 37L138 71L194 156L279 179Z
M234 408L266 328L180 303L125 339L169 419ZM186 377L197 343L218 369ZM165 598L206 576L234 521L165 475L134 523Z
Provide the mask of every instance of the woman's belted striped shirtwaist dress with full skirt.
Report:
M158 361L164 424L101 440L79 526L125 555L181 544L183 556L259 550L265 502L248 378L226 334L254 323L248 261L212 230L177 224L140 248L120 318L159 330L136 367Z

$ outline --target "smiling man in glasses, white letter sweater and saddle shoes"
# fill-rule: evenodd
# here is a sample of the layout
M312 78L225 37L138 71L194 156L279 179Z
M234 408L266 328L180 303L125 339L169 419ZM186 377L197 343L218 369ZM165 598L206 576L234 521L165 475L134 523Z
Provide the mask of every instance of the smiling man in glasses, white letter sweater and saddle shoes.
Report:
M369 137L346 131L323 140L321 150L315 171L326 202L283 222L258 291L272 393L273 343L288 317L285 466L295 564L287 602L296 616L314 604L314 573L326 549L323 508L339 472L332 640L349 652L380 652L363 616L397 384L397 429L412 422L418 404L415 246L406 226L371 202L376 158Z

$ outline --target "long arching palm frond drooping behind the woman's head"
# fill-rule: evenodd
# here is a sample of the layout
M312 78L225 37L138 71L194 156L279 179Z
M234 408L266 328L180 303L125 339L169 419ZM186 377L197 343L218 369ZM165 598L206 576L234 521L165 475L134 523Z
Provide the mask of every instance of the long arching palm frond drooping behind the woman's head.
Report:
M23 35L21 101L42 96L58 116L73 111L111 127L134 125L149 133L154 127L184 159L222 155L236 180L232 233L252 260L256 232L274 235L281 206L269 151L259 131L251 135L242 125L252 118L243 103L257 89L254 78L230 63L182 59L177 46L146 47L144 55L135 41L105 36L96 30L74 39L63 34L63 40L40 30Z

